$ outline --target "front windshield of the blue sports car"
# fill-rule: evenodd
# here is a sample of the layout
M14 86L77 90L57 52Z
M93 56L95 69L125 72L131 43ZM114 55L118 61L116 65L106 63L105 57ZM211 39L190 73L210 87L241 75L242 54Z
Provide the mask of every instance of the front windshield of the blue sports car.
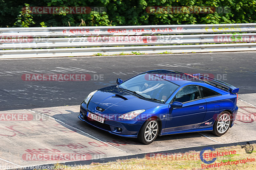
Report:
M144 98L162 102L165 102L178 87L177 84L148 73L137 75L119 85L121 89L134 91Z

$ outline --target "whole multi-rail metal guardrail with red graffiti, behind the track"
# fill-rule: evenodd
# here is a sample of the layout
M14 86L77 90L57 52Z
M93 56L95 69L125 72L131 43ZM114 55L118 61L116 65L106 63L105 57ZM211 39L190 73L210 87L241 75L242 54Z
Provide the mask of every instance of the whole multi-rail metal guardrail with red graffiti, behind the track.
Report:
M135 51L141 53L247 51L256 50L256 44L253 43L256 42L254 32L256 32L256 23L0 28L0 49L2 49L0 59L84 56L95 53L110 55Z

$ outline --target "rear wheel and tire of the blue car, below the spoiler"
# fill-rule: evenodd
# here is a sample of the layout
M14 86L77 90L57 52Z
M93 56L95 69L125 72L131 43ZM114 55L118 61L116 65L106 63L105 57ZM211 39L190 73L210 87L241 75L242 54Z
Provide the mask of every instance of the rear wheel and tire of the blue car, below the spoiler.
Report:
M213 131L212 133L216 136L222 136L227 133L230 124L231 124L231 115L229 112L224 111L220 113L213 124Z

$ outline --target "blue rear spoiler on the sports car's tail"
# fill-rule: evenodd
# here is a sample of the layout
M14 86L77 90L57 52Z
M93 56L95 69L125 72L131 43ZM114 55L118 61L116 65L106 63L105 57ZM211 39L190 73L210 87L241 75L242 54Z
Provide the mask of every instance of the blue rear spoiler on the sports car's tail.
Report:
M228 88L225 88L223 86L220 86L224 89L227 89L229 92L231 93L238 93L239 91L239 88L236 88L235 86L232 86L226 82L223 82L223 81L220 81L218 79L214 79L212 77L207 77L207 76L204 76L203 74L200 74L200 73L197 73L197 74L193 74L193 76L196 76L196 77L199 77L200 78L205 78L205 79L208 79L206 82L209 82L210 84L213 84L215 85L216 87L220 86L219 84L223 85L223 86L226 86ZM201 79L200 79L201 80ZM204 80L203 80L204 81ZM212 82L213 81L213 82ZM218 84L217 84L218 83Z

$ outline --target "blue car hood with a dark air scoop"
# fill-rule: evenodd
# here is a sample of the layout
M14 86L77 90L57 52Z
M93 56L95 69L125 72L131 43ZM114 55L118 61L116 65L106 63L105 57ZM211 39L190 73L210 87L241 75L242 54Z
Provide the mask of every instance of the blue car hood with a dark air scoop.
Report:
M134 110L148 109L160 103L144 100L126 92L116 86L110 86L98 90L91 98L90 102L98 104L108 110L119 114L124 114ZM89 103L90 105L90 103Z

